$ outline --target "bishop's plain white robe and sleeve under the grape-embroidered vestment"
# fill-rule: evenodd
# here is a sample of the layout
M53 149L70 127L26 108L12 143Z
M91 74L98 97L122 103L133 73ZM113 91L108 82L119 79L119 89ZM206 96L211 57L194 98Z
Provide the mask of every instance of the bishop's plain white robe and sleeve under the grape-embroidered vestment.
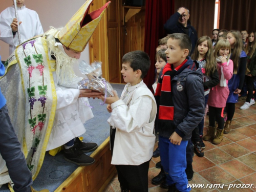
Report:
M53 78L57 94L57 106L52 132L46 151L61 146L86 132L84 123L93 118L87 98L78 98L80 91L76 89L81 77L75 77L69 83L58 83L56 73ZM71 89L69 89L71 88ZM73 88L73 89L72 89Z

